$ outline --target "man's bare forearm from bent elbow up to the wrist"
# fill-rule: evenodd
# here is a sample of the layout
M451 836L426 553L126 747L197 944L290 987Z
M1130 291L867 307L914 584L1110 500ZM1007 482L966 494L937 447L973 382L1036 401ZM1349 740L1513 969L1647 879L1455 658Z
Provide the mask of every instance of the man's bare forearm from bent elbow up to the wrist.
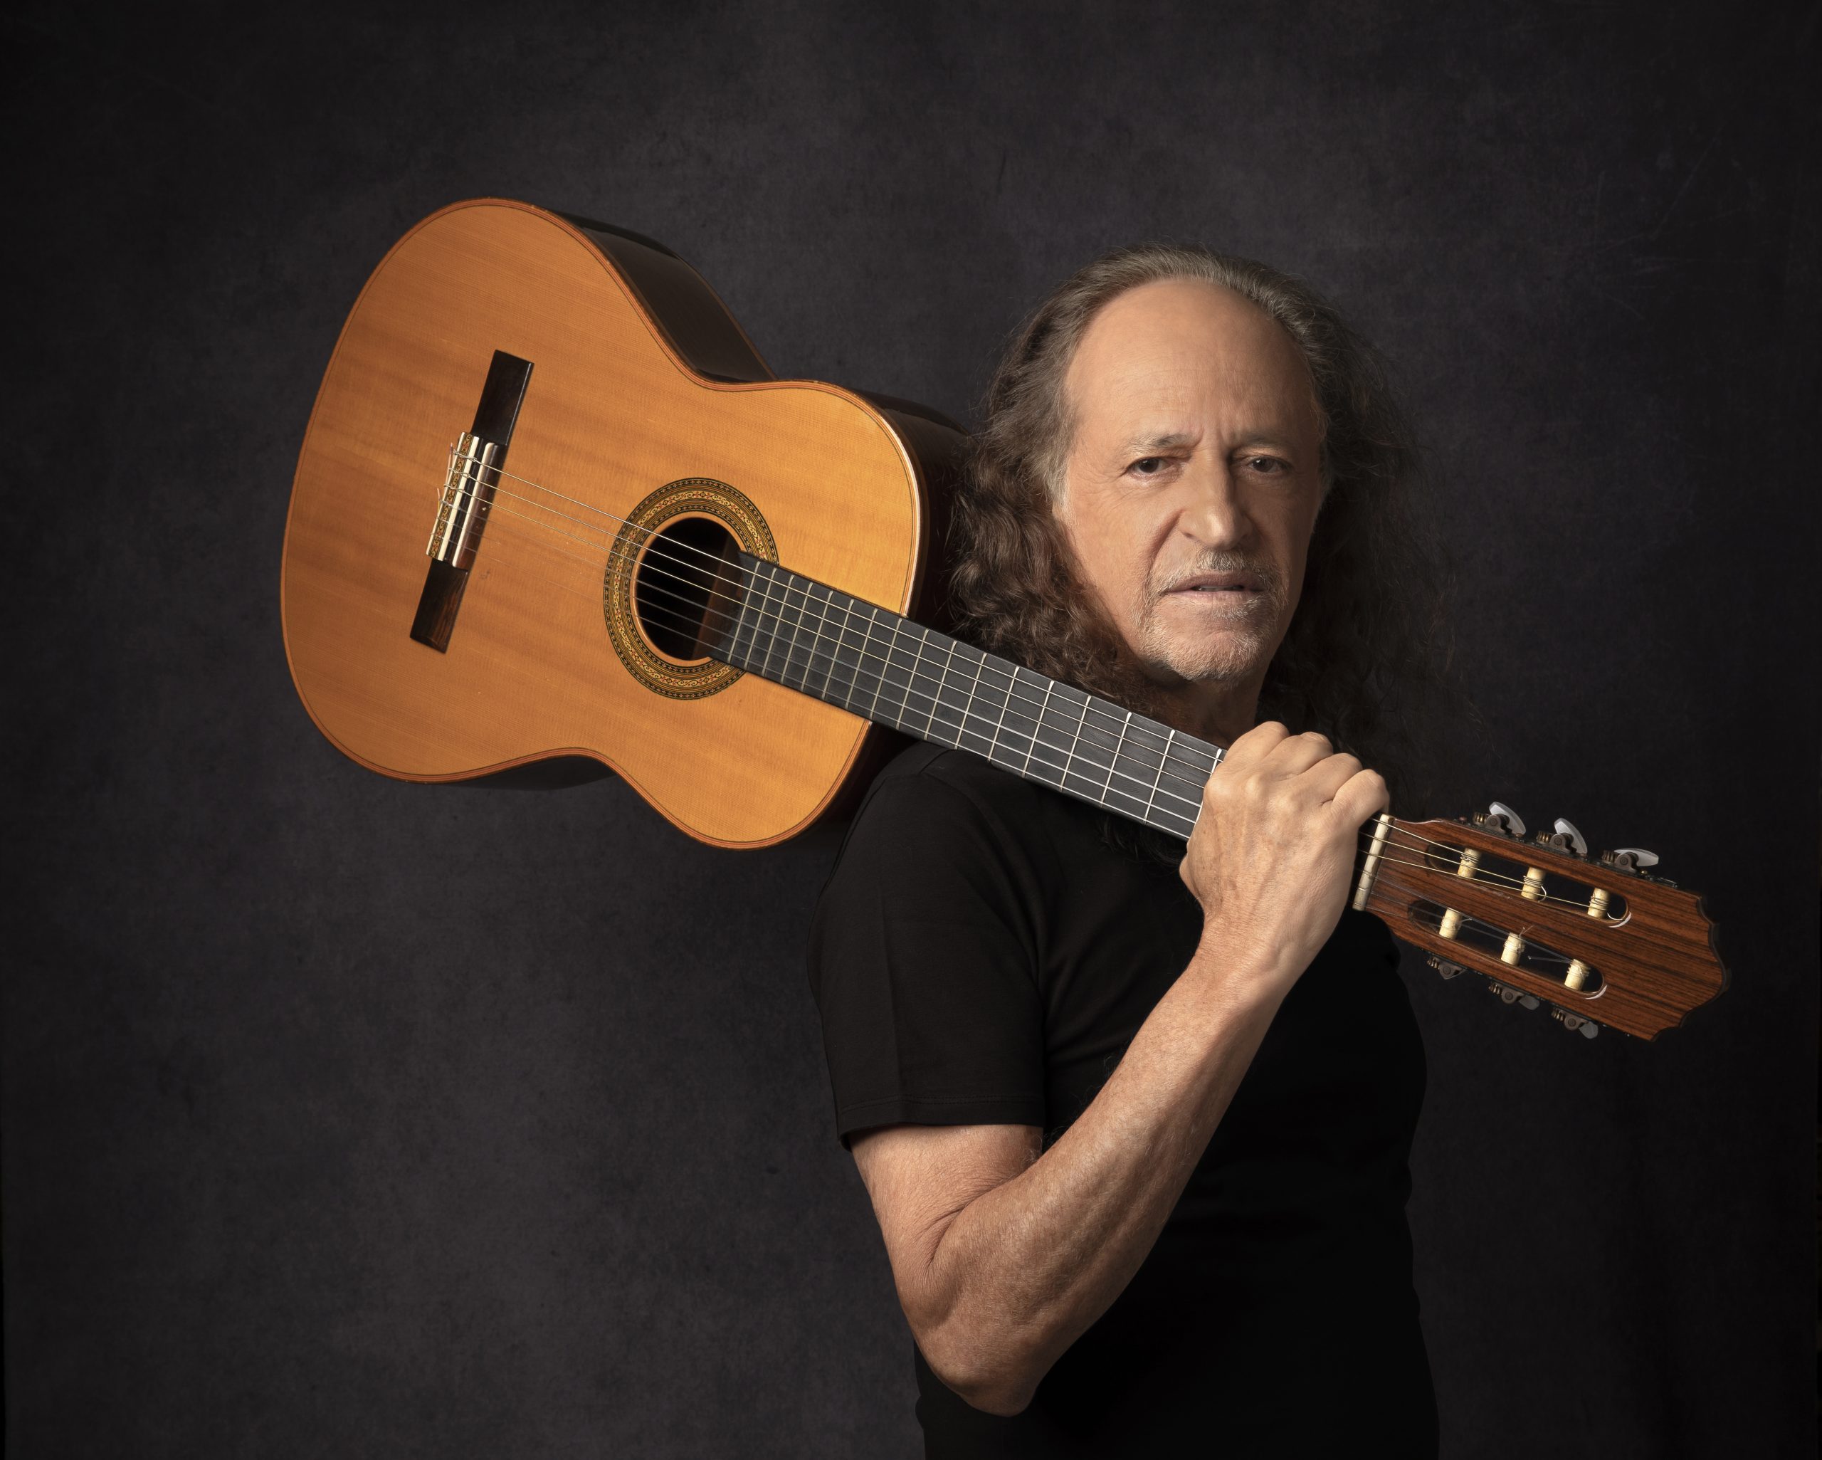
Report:
M1152 1250L1277 1012L1283 981L1252 973L1199 951L1055 1146L933 1214L900 1296L924 1356L977 1407L1029 1403Z

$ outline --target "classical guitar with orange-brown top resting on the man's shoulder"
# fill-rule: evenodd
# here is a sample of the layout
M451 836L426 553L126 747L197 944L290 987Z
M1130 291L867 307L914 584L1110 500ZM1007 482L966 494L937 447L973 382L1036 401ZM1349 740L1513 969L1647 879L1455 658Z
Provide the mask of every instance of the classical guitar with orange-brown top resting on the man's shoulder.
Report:
M875 725L1186 838L1217 745L916 622L962 443L773 377L650 239L454 204L381 261L317 394L284 534L297 693L383 775L590 762L727 848L829 813ZM1385 815L1354 906L1447 977L1653 1039L1727 984L1654 860L1500 806Z

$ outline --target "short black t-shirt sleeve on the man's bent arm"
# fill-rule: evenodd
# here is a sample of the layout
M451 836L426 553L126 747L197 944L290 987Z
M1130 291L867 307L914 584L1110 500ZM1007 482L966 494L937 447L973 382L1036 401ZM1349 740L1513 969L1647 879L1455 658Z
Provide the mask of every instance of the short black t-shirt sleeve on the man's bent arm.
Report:
M1044 1125L1029 893L940 775L891 776L824 888L809 975L845 1145L880 1125Z

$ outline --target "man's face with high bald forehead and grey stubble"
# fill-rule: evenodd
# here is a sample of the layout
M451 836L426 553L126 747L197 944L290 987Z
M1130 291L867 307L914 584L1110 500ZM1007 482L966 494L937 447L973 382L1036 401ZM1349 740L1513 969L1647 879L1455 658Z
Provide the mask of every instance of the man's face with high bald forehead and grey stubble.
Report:
M1122 638L1161 684L1257 691L1323 496L1297 346L1232 290L1142 284L1095 315L1064 388L1057 521Z

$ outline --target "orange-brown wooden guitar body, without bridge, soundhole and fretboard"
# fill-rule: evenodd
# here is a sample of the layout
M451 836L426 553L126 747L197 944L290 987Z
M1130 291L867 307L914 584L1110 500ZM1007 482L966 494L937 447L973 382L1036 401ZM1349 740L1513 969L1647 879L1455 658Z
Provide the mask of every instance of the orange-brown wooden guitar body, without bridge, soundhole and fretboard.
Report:
M510 476L437 649L410 634L426 541L496 352L530 366ZM284 536L292 676L337 749L383 775L587 756L701 840L778 842L831 806L876 731L752 674L705 687L638 620L616 640L607 529L683 483L674 501L740 516L762 556L916 612L962 441L915 406L773 379L658 244L454 204L374 272L317 394Z

